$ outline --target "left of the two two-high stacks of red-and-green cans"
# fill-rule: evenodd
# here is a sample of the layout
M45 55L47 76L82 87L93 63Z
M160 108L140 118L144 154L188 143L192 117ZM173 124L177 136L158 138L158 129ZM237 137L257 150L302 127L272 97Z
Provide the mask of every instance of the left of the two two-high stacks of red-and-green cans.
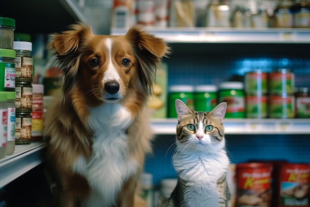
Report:
M267 117L267 73L261 69L245 75L246 117Z

